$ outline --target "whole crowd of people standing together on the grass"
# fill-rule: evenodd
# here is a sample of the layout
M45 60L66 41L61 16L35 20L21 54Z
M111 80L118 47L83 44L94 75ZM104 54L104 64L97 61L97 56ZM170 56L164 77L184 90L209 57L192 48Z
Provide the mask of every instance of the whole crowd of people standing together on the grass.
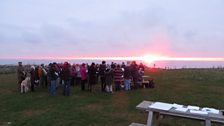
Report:
M21 83L25 78L30 78L30 90L34 91L36 86L48 87L49 94L56 95L56 89L63 87L63 95L70 95L70 87L80 85L81 90L95 91L96 84L100 83L102 92L113 93L124 89L129 91L140 87L140 82L144 75L145 67L142 63L137 64L135 61L127 64L70 64L50 63L49 65L41 64L39 66L23 66L22 62L18 63L18 87L21 90ZM153 83L153 80L149 80ZM132 86L133 84L133 86Z

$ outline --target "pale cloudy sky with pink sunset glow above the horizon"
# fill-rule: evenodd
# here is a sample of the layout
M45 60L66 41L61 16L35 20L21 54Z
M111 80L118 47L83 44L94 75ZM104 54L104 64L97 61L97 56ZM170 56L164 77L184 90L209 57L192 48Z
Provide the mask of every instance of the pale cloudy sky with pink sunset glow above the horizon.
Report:
M1 0L0 59L224 56L223 0Z

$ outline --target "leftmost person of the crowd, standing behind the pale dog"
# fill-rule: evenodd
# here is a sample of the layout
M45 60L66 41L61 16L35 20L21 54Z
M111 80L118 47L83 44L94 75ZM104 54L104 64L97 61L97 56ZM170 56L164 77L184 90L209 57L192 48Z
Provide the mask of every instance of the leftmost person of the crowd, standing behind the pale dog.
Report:
M24 67L22 65L22 62L18 62L18 67L17 67L17 87L18 90L20 91L20 85L22 83L22 81L25 79L26 75L25 75L25 71L24 71Z

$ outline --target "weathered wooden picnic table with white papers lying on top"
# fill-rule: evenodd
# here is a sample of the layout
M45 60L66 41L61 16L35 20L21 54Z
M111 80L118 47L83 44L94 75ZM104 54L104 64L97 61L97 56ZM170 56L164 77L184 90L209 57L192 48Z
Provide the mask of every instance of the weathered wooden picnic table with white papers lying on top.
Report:
M204 114L191 113L189 110L186 112L180 112L180 111L176 111L175 108L171 108L170 110L150 108L149 106L152 104L154 104L154 102L142 101L140 104L136 106L137 109L148 112L147 126L152 126L152 121L153 121L152 119L153 119L154 113L159 113L160 115L169 115L169 116L175 116L175 117L204 120L205 126L211 126L212 122L224 124L223 110L220 110L219 114L208 113L204 115ZM131 126L138 126L137 124L136 125L135 124L136 123L134 123L133 125L131 124ZM141 125L139 124L139 126Z

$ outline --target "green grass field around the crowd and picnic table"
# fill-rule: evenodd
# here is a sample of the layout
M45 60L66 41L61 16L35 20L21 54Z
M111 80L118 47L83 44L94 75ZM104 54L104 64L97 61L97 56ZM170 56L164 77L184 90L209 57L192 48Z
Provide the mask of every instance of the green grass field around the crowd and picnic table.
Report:
M142 100L197 105L224 109L223 69L176 69L146 72L154 78L156 88L114 94L82 92L71 89L71 96L55 97L47 89L20 94L16 91L16 74L0 74L0 125L19 126L127 126L146 123L147 113L135 107ZM160 126L202 126L197 120L166 117ZM223 126L215 124L214 126Z

